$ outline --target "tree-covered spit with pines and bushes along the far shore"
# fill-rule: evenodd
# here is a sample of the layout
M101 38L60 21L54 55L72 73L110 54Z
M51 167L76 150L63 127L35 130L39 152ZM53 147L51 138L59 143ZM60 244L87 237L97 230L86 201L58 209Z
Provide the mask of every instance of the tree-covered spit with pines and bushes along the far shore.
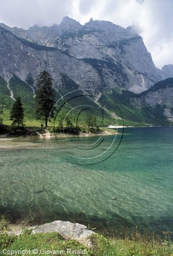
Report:
M9 119L11 124L7 125L3 122L3 118L0 118L0 134L6 134L6 136L27 135L36 136L38 134L54 133L61 135L63 133L73 136L92 136L98 134L111 135L115 134L115 131L103 128L104 123L98 120L98 117L91 111L88 111L85 115L82 115L80 122L73 121L73 116L77 113L71 113L70 116L66 114L67 111L62 110L55 122L55 110L54 105L56 103L55 91L53 88L53 78L44 70L38 76L36 82L35 92L35 109L33 109L33 115L35 120L42 120L40 126L38 123L35 125L25 124L25 113L22 105L22 98L16 97L10 113ZM3 109L0 110L0 115L3 114ZM54 121L53 123L52 120ZM31 120L32 122L32 120ZM43 124L44 122L44 124ZM34 123L34 120L33 120Z

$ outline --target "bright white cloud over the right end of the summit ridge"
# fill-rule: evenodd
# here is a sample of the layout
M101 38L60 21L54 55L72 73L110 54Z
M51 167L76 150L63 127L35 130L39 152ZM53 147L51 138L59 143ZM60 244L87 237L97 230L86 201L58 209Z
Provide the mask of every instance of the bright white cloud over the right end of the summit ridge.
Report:
M79 1L80 2L80 1ZM101 0L97 8L78 15L81 22L89 17L105 19L122 27L133 26L151 52L156 67L173 64L172 0Z

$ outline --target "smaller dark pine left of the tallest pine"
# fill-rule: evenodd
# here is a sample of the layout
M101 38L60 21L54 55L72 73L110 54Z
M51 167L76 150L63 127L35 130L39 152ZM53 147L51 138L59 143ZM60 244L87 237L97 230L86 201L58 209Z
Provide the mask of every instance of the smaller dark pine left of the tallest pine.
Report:
M13 103L11 112L10 112L10 120L13 120L12 125L22 125L23 126L24 119L24 110L22 107L20 97L16 98L16 101Z

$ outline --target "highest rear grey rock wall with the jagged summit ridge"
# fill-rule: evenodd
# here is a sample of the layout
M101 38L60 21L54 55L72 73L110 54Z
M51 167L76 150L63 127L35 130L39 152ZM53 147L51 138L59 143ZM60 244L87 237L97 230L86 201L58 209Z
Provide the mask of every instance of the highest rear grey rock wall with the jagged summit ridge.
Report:
M92 72L96 72L95 75L99 76L98 70L101 67L103 76L98 77L96 82L94 81L94 75L94 84L102 83L102 78L104 78L103 84L107 84L108 88L118 87L140 93L150 88L155 82L166 78L165 72L155 67L151 54L147 52L142 38L134 32L132 27L125 29L111 22L93 19L90 19L85 25L81 25L69 17L64 17L60 25L51 27L33 26L28 30L23 30L16 27L10 28L4 24L0 24L0 26L19 38L27 39L38 45L57 48L79 61L86 58L97 59L97 65L93 68L93 65L95 65L93 63L89 70L92 69ZM111 70L102 66L103 60L121 66L122 74L116 73L114 76ZM40 58L40 61L44 60ZM46 61L48 62L48 60ZM62 70L57 71L63 73ZM82 73L81 76L84 76ZM32 75L33 78L36 77L35 74ZM79 74L76 76L79 76ZM80 77L77 78L76 76L70 76L70 78L79 82ZM119 79L116 79L118 76ZM128 79L123 79L123 77L128 77ZM54 77L54 80L59 82L57 77ZM86 80L89 80L87 75ZM92 81L89 83L91 87Z

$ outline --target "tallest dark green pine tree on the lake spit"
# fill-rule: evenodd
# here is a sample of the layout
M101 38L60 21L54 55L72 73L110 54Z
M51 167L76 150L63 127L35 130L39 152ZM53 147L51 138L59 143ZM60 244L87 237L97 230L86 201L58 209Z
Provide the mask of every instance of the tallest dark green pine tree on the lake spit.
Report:
M52 109L55 105L55 91L52 81L52 76L44 70L38 76L36 84L36 113L37 117L44 118L46 128L48 119L54 116Z

